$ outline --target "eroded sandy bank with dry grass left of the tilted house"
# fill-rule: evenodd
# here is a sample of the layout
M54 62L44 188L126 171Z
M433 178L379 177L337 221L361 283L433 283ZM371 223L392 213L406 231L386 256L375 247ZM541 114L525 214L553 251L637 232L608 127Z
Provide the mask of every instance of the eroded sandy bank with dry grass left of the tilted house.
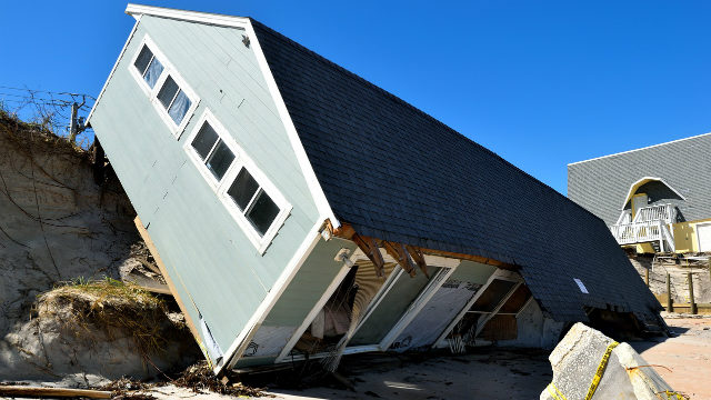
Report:
M106 280L142 262L116 176L98 184L90 151L1 110L0 210L0 380L144 378L158 373L151 362L178 362L183 344L196 347L153 336L170 327L162 306ZM96 280L108 286L83 283ZM178 353L144 357L158 348Z

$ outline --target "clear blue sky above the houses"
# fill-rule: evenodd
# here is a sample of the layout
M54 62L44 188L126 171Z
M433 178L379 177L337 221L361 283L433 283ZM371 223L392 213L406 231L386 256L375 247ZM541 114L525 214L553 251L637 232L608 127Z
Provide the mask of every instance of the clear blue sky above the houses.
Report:
M711 131L709 1L142 3L253 17L562 193L570 162ZM3 3L0 87L98 96L124 9Z

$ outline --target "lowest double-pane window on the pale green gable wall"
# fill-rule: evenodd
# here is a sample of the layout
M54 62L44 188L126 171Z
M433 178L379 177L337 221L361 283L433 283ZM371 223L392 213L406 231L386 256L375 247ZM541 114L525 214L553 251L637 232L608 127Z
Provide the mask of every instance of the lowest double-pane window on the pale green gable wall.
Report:
M246 168L240 170L227 192L254 230L260 236L264 236L277 219L280 209Z

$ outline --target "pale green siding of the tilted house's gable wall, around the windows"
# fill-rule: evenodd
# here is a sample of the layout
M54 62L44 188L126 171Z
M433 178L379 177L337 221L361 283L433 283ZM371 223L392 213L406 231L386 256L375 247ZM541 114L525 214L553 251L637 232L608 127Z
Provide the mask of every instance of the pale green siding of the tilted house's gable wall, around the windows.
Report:
M148 33L200 97L180 140L129 73ZM319 213L244 32L143 16L91 124L180 296L200 308L223 351L272 289ZM293 209L259 254L183 144L209 108ZM188 294L189 292L189 294Z

